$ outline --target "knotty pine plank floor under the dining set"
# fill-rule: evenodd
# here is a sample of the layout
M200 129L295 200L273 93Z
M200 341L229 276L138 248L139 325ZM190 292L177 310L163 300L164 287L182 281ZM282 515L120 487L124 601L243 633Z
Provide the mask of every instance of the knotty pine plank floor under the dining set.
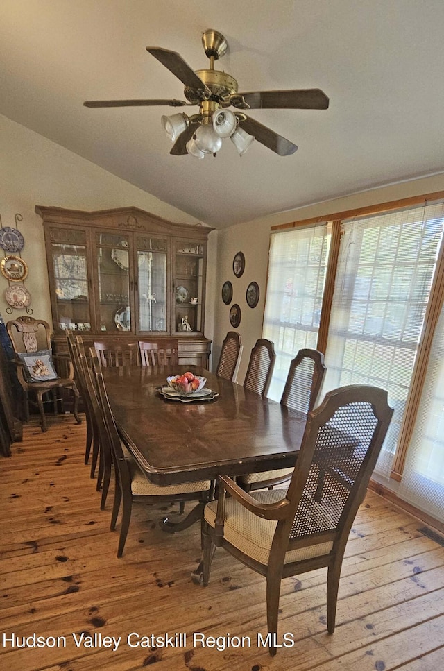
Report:
M343 562L335 633L326 630L325 570L286 579L280 636L287 632L294 645L271 658L257 645L258 634L266 636L264 578L218 550L210 586L191 581L198 525L170 536L157 526L164 510L135 505L117 559L118 534L108 530L112 492L101 511L83 464L84 444L85 423L49 418L46 434L26 426L12 457L0 459L1 669L444 668L444 547L418 530L424 525L416 518L369 492ZM146 638L133 634L129 643L146 647L129 645L133 632ZM166 633L175 647L148 640ZM180 633L187 634L186 645L174 640ZM194 633L222 637L219 647L228 640L234 645L194 645ZM12 634L15 647L7 640ZM44 647L31 647L34 635ZM22 637L28 647L18 647ZM117 649L106 637L121 637ZM244 647L234 647L242 637Z

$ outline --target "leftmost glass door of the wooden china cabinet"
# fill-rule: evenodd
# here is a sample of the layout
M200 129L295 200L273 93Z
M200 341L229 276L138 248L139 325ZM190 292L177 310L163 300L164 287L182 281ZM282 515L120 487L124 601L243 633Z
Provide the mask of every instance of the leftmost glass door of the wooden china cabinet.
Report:
M51 229L54 328L91 330L85 230Z

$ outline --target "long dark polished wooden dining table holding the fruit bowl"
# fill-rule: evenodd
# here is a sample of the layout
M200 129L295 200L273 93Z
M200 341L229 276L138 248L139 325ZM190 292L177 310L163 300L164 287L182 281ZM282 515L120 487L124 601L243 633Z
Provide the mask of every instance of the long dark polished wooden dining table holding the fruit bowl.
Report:
M205 377L207 396L164 395L167 377ZM294 466L307 416L198 366L104 367L103 379L121 439L157 485L218 475L236 477ZM211 392L211 393L210 393ZM198 519L202 502L180 523Z

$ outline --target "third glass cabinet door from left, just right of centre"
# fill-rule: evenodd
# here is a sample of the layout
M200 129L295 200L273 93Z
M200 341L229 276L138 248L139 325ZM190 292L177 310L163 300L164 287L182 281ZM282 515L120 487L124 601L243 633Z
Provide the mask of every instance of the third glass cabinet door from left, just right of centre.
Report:
M136 236L139 332L166 332L167 240Z

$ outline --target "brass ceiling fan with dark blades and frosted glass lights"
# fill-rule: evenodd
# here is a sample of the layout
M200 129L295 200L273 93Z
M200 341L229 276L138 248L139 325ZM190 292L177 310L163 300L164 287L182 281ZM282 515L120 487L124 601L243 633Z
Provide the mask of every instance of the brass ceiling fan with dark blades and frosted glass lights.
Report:
M248 117L244 110L290 109L326 110L329 99L320 89L295 89L284 91L255 91L239 93L237 80L230 74L214 69L214 62L228 49L225 37L218 31L208 30L202 36L203 48L210 59L210 68L194 71L176 51L147 46L146 50L157 58L182 84L187 102L171 100L90 100L83 103L89 108L137 107L169 105L170 107L199 106L198 114L184 113L162 117L162 125L173 144L171 154L190 153L196 158L206 154L216 155L224 137L230 137L239 155L243 155L253 139L280 156L293 154L296 144L274 130ZM234 108L234 112L228 108Z

